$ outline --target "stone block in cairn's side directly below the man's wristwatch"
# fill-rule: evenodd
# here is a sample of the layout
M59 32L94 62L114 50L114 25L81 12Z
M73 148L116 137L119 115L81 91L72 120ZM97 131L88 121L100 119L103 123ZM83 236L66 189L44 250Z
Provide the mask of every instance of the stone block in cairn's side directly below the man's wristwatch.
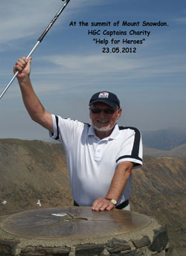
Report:
M113 238L106 244L106 249L109 253L115 253L130 250L131 246L125 240L118 240Z

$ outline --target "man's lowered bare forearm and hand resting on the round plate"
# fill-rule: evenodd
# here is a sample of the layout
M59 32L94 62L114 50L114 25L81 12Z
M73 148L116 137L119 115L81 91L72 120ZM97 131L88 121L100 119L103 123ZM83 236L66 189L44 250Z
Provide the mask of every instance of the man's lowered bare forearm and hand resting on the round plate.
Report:
M93 202L92 210L104 211L112 210L112 208L115 208L115 205L109 199L115 199L116 201L118 201L121 193L124 191L126 182L128 181L130 174L132 173L132 167L133 164L130 161L122 161L120 164L118 164L106 197L96 199Z

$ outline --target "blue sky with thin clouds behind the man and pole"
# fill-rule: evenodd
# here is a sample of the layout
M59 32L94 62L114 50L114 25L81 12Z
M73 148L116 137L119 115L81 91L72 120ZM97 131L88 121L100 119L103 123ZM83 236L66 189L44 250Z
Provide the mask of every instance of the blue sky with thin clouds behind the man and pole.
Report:
M0 2L1 92L16 60L28 55L62 4L60 0ZM82 21L89 26L80 26ZM107 21L110 26L91 26ZM126 27L124 21L140 24ZM142 26L144 21L167 22L167 26ZM185 28L183 0L71 0L33 53L31 80L36 95L48 112L89 122L89 98L107 90L121 100L119 124L141 131L184 129ZM91 30L100 30L100 35L88 35ZM126 31L126 35L103 35L105 30ZM132 30L150 35L132 36ZM121 41L112 45L112 38ZM106 39L109 44L96 44L93 39ZM125 45L123 39L145 40L141 45ZM106 47L109 51L136 48L136 53L103 53ZM48 139L48 132L29 118L16 80L0 100L0 116L1 138Z

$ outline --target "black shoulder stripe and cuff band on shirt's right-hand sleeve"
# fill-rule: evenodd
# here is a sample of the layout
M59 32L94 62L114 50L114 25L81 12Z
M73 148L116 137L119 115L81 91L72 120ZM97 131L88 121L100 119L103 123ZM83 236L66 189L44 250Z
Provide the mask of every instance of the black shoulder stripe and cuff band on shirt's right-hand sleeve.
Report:
M138 159L138 160L142 161L142 159L139 157L139 145L140 145L140 139L141 139L141 133L139 132L139 130L135 127L119 127L119 129L133 129L135 131L135 140L134 140L134 144L132 147L131 156L130 155L129 156L121 156L116 160L116 162L118 160L126 159L126 158Z

